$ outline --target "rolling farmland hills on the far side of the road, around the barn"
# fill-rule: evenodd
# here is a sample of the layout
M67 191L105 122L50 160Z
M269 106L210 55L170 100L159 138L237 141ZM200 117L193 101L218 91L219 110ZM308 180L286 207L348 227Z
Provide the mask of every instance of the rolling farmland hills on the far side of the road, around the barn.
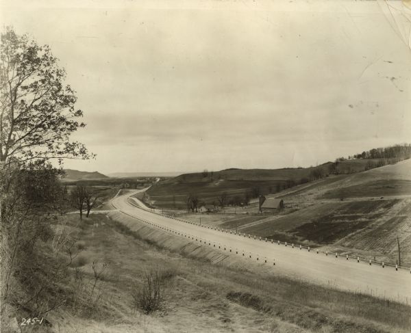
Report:
M227 202L224 212L203 214L201 222L386 263L399 260L399 243L401 265L411 267L411 159L387 165L381 161L347 159L314 168L183 174L155 184L148 195L155 207L186 209L188 194L197 195L202 204L216 202L223 192L229 198L243 197L258 188L266 197L284 199L286 209L261 214L256 200L237 208ZM338 172L331 173L335 166ZM313 179L316 170L323 176ZM199 221L196 213L183 218Z

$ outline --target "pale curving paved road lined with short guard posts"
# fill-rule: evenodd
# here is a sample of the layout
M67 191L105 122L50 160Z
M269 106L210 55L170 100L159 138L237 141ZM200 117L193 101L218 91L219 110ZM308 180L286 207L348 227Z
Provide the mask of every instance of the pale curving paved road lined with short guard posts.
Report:
M145 191L142 189L140 191ZM129 216L136 217L142 222L149 223L153 228L173 230L181 237L192 237L192 241L206 241L206 245L224 247L232 255L242 257L245 260L259 261L272 265L276 274L294 276L310 282L331 285L338 289L358 291L372 294L378 297L387 297L399 302L411 302L411 274L408 269L395 270L394 267L382 268L380 265L369 265L353 258L347 261L345 257L335 257L335 254L317 254L316 250L300 250L297 246L292 248L290 244L278 245L264 240L234 235L229 232L214 230L208 227L181 222L177 219L165 217L158 213L152 213L139 200L130 196L140 192L134 191L112 200L112 205ZM132 201L131 204L129 201ZM238 254L236 254L238 251ZM251 259L249 256L251 255ZM275 266L273 263L275 262Z

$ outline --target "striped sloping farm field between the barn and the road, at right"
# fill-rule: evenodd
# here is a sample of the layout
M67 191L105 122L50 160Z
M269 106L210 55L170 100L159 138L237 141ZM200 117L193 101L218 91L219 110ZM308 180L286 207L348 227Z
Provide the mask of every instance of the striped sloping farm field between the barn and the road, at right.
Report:
M244 216L191 213L182 218L198 223L201 217L203 224L390 263L398 259L399 237L401 264L411 266L410 170L406 160L292 187L279 196L292 207L282 213L256 214L257 204L251 204L242 210L250 212Z

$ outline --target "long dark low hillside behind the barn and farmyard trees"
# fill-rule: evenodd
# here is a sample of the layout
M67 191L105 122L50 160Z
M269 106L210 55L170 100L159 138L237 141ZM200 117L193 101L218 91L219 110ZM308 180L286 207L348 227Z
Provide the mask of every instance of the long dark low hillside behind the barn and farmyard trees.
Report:
M155 184L147 194L155 207L184 209L186 196L190 193L196 194L200 202L205 204L217 202L217 197L223 193L226 193L228 198L239 197L243 200L247 192L251 198L258 194L276 194L316 178L325 179L330 174L335 177L362 172L369 163L376 163L376 161L351 159L328 162L311 168L229 169L219 172L182 174Z

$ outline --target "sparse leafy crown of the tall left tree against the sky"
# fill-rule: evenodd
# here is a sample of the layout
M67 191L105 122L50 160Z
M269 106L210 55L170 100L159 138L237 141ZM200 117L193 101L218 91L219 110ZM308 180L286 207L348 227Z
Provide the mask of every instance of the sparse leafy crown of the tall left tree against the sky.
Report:
M20 163L87 158L86 148L70 142L84 127L76 96L64 85L66 73L49 46L39 46L10 27L1 34L0 161Z

